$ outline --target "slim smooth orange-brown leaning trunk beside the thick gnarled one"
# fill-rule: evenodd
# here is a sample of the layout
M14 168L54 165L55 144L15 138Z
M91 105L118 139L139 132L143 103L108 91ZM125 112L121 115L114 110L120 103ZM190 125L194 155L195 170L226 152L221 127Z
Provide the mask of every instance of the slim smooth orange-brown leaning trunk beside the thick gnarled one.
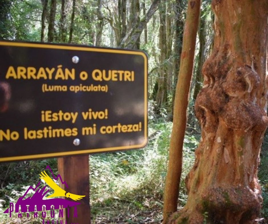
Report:
M182 170L182 147L187 121L186 112L193 71L199 12L200 0L189 0L183 32L180 72L178 74L174 101L173 128L169 146L168 172L164 194L163 223L167 223L168 216L175 212L178 206L178 192Z

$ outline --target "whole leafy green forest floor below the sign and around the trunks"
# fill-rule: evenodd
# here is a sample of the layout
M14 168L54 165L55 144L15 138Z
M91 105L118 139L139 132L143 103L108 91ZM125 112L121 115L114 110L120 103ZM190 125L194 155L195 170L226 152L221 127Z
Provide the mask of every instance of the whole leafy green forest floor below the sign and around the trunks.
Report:
M151 118L149 142L144 149L90 156L90 204L92 223L161 223L163 190L172 123ZM194 130L195 129L195 130ZM200 133L187 128L184 141L179 205L187 200L184 178L194 162ZM0 165L0 223L42 223L38 219L9 218L3 211L16 202L40 170L50 165L57 172L56 159L5 163ZM259 166L263 208L261 221L268 220L268 134L264 138ZM268 223L268 222L267 222Z

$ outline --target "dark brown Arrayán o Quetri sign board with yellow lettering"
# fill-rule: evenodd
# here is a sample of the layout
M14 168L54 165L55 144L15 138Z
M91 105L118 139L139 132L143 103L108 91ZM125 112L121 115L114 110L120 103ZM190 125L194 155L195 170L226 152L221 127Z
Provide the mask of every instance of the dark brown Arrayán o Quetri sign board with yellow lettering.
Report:
M0 42L0 162L143 148L142 51Z

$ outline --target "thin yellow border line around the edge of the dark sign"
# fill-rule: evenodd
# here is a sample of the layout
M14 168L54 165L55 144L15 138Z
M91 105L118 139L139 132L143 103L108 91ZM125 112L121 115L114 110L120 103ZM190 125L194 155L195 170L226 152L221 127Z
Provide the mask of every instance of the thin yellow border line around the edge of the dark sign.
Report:
M0 162L5 161L15 161L15 160L26 160L26 159L41 159L47 157L59 157L65 155L79 155L79 154L90 154L97 152L111 152L117 150L127 150L134 148L143 148L147 144L148 133L147 133L147 55L142 51L131 51L131 50L120 50L120 49L109 49L109 48L95 48L86 46L72 46L72 45L56 45L56 44L40 44L40 43L23 43L23 42L3 42L0 41L0 46L11 46L11 47L33 47L33 48L46 48L46 49L62 49L62 50L73 50L73 51L92 51L92 52L104 52L104 53L117 53L117 54L132 54L141 55L144 58L144 142L139 145L133 146L118 146L109 148L97 148L88 150L78 150L70 152L54 152L45 154L35 154L35 155L22 155L22 156L12 156L12 157L0 157Z

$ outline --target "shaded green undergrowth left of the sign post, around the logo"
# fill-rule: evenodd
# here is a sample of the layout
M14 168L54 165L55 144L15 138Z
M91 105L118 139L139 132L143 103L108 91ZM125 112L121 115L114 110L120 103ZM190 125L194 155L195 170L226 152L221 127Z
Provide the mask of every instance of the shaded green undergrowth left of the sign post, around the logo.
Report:
M54 174L58 173L56 159L0 164L0 223L41 223L40 219L31 221L31 219L29 220L25 215L19 221L16 220L14 214L10 219L7 214L3 214L3 211L9 207L10 202L15 204L18 198L23 196L29 186L36 186L36 184L38 184L40 181L39 173L46 169L47 165L50 166ZM33 195L33 192L29 192L29 195Z

